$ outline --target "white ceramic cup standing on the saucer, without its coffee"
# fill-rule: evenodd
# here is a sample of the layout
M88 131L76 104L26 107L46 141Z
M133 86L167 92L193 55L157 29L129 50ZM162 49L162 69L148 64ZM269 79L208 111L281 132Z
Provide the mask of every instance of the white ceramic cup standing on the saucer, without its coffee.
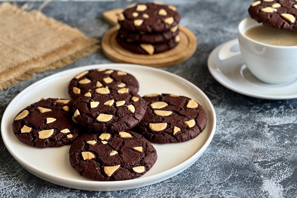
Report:
M239 48L247 67L254 76L266 83L293 81L297 77L297 46L268 45L244 34L259 25L262 23L245 18L238 26Z

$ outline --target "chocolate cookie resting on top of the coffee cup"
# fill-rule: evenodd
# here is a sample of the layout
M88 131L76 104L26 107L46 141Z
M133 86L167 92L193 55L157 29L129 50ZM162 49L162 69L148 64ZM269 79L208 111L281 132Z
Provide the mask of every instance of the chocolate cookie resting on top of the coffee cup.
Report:
M294 0L259 0L249 7L253 19L277 29L297 29L297 2Z

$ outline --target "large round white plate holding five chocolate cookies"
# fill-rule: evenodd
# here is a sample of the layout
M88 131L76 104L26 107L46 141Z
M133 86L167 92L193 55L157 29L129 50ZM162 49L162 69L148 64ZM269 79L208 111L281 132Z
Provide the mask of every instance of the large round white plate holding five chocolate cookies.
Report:
M184 143L153 144L156 164L145 175L126 181L94 181L80 176L69 163L69 145L36 148L20 142L12 132L15 115L40 98L69 98L68 83L85 70L108 67L133 74L140 84L140 95L174 93L193 98L206 110L207 125L197 138ZM118 191L148 186L166 180L191 166L211 142L216 128L214 108L207 96L194 84L172 73L151 67L129 64L89 65L48 76L20 92L7 106L1 122L4 143L12 156L32 174L51 183L90 191Z

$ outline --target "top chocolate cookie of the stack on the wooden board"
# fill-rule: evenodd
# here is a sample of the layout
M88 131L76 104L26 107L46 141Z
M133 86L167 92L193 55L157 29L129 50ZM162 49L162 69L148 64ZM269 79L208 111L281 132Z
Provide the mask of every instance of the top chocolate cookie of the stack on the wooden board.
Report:
M166 32L180 19L174 6L146 3L127 8L118 21L121 28L131 32Z

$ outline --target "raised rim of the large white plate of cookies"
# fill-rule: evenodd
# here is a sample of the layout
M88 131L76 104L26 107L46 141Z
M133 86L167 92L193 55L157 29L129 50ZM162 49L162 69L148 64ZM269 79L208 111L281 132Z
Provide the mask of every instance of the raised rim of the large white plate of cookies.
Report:
M118 65L122 65L123 67L124 66L135 67L135 69L137 67L146 67L146 66L132 65L132 64L96 64L96 65L87 65L87 66L82 66L82 67L76 67L76 68L72 68L69 70L77 70L79 72L79 71L83 71L83 70L89 70L94 67L112 67L112 66L118 66ZM214 132L216 129L216 122L217 122L214 107L212 106L211 101L208 99L208 97L205 95L205 93L202 92L202 90L199 89L198 87L196 87L194 84L187 81L186 79L184 79L180 76L177 76L173 73L170 73L170 72L167 72L164 70L159 70L159 69L156 69L153 67L147 67L147 69L154 70L155 72L159 72L159 73L164 73L166 75L171 75L173 78L177 78L178 80L186 83L187 85L191 86L191 88L193 88L193 90L195 90L196 92L199 92L199 94L201 94L203 96L203 98L205 99L206 103L208 103L208 106L211 107L211 109L208 109L208 110L212 114L211 118L213 119L213 124L210 126L211 131L209 133L208 138L206 139L206 142L200 148L200 150L198 150L194 155L192 155L192 157L188 158L186 161L182 162L181 164L179 164L171 169L168 169L164 172L161 172L161 173L158 173L155 175L151 175L148 177L143 177L143 178L140 177L140 178L135 178L133 180L124 180L124 181L108 181L108 182L104 181L104 182L102 182L102 181L81 181L81 180L59 177L59 176L52 175L47 172L41 171L41 170L35 168L34 166L31 166L30 164L27 164L26 162L22 161L20 158L18 158L18 155L10 149L10 146L8 146L9 144L6 139L6 133L7 133L8 129L6 128L6 126L4 124L4 120L6 120L7 119L6 117L9 115L7 110L11 108L13 103L15 103L15 100L19 97L19 95L23 95L23 93L26 92L26 90L30 89L31 87L37 86L38 84L43 83L44 81L47 81L50 78L58 76L61 73L64 73L64 72L66 73L69 70L64 70L64 71L55 73L53 75L50 75L48 77L45 77L45 78L35 82L34 84L31 84L29 87L27 87L26 89L21 91L18 95L16 95L15 98L10 102L10 104L7 106L6 110L4 111L2 121L1 121L1 131L2 131L1 135L2 135L2 139L4 141L4 144L7 148L7 150L18 161L18 163L20 163L21 166L23 166L26 170L31 172L33 175L36 175L37 177L40 177L43 180L49 181L51 183L55 183L60 186L76 188L76 189L81 189L81 190L94 190L94 187L97 187L97 188L102 187L103 190L100 190L100 191L106 191L104 187L110 187L110 186L119 186L119 188L116 188L116 189L113 188L112 191L139 188L139 187L149 186L151 184L164 181L164 180L166 180L170 177L173 177L173 176L177 175L178 173L184 171L189 166L191 166L202 155L202 153L206 150L206 148L208 147L208 145L210 144L210 142L214 136ZM83 183L83 186L76 186L76 185L81 185L81 183ZM89 187L86 187L86 186L89 186Z

